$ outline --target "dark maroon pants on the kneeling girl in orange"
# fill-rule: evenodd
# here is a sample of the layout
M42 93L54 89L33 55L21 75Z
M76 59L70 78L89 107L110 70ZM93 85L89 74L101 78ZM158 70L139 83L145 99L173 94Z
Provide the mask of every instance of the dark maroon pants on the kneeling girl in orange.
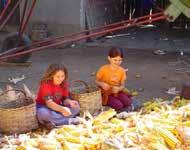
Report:
M117 111L121 111L124 108L131 106L132 99L124 92L120 92L117 95L110 95L108 98L108 106L114 108Z

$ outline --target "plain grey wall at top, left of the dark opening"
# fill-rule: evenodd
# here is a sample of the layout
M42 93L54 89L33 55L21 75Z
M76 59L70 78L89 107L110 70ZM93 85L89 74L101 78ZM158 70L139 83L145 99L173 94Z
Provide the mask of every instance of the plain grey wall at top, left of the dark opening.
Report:
M76 32L80 30L80 0L37 0L30 27L36 22L45 22L53 35Z

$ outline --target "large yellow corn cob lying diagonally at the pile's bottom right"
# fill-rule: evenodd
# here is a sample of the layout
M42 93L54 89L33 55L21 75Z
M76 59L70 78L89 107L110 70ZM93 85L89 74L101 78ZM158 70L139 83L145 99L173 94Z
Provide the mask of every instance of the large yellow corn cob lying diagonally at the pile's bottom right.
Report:
M181 144L181 142L170 131L160 127L157 127L156 129L170 148L175 149L177 145Z

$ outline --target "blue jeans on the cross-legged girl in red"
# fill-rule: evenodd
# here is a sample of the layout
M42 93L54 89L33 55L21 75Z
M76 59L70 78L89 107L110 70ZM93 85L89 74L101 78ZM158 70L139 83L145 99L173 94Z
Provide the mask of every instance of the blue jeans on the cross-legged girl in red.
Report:
M63 116L61 113L48 108L45 105L38 105L37 118L41 124L52 123L56 126L69 124L69 119L76 117L80 112L80 108L70 108L70 110L72 114L66 117Z

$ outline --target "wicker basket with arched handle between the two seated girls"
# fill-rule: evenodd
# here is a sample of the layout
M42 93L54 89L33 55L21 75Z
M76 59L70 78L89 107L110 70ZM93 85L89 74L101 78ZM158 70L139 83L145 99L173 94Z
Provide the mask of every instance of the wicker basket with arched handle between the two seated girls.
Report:
M79 83L85 86L85 90L76 91L71 89L71 97L78 100L81 108L81 113L88 111L89 113L97 114L102 110L101 90L98 87L89 86L82 80L71 82L71 85Z

